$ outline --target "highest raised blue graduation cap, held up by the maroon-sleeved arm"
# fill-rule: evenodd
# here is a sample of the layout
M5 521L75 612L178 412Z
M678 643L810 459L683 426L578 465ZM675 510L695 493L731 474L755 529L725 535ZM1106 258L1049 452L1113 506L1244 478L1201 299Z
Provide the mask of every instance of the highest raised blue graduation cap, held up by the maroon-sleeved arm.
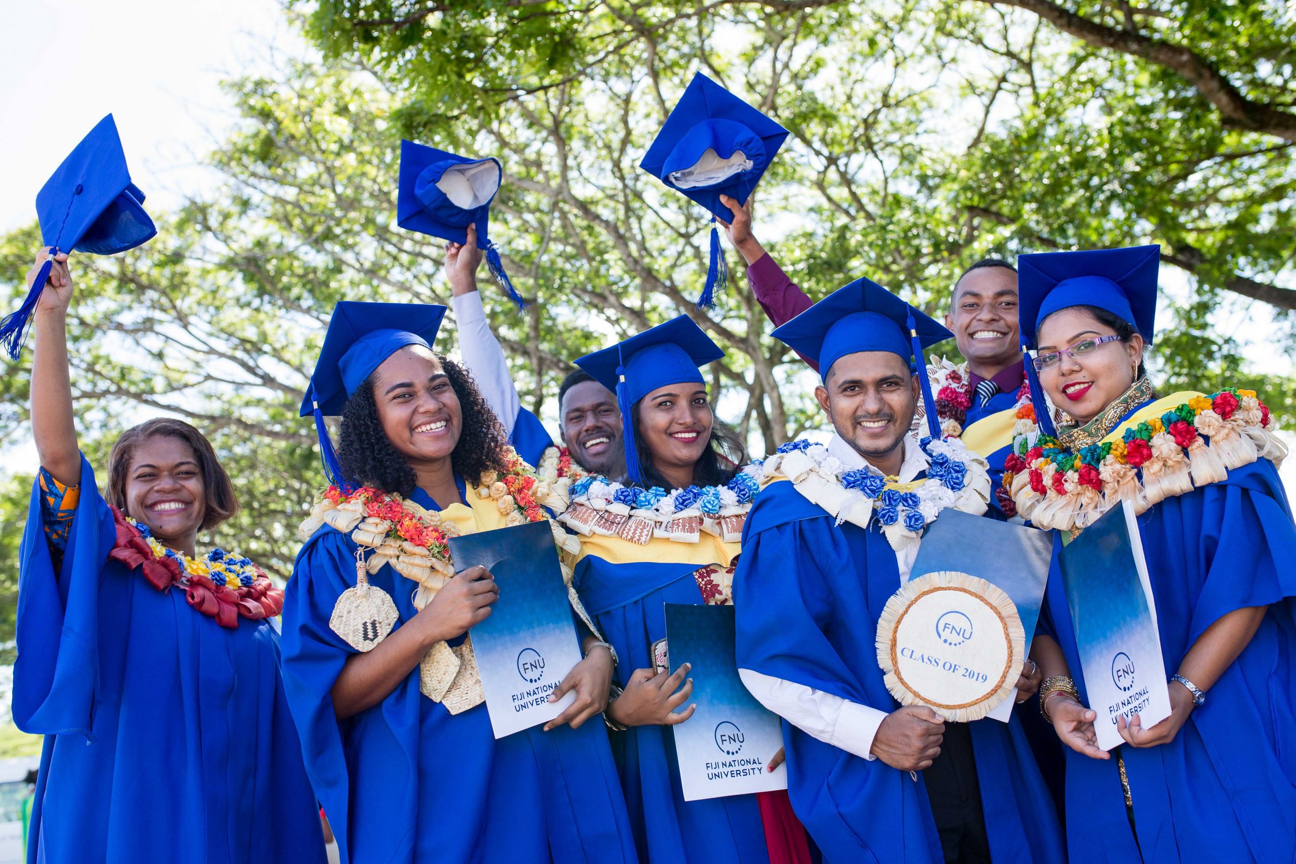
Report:
M788 130L696 73L639 167L710 210L713 222L732 222L734 211L721 196L745 205L787 136ZM714 305L715 288L723 291L728 276L714 224L710 252L699 309Z

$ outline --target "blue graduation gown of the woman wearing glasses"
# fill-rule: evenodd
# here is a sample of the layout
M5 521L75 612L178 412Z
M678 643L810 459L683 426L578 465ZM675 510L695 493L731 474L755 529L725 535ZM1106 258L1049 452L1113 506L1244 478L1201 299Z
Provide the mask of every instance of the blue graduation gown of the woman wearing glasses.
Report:
M1138 518L1165 676L1216 620L1267 606L1255 638L1192 711L1174 741L1121 746L1135 841L1115 752L1067 749L1072 860L1283 861L1296 859L1296 528L1278 471L1258 461L1227 480L1166 498ZM1046 595L1076 684L1080 655L1058 570Z

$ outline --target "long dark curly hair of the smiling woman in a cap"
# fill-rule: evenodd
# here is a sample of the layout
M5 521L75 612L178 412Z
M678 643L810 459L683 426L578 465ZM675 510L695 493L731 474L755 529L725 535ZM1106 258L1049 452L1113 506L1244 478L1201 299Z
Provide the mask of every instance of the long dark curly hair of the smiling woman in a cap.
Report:
M486 471L505 471L508 435L504 427L477 390L472 375L454 361L441 354L435 357L463 411L459 441L450 454L455 474L468 483L477 483ZM337 458L347 480L410 497L417 477L382 431L378 405L373 398L373 375L346 400L338 438Z

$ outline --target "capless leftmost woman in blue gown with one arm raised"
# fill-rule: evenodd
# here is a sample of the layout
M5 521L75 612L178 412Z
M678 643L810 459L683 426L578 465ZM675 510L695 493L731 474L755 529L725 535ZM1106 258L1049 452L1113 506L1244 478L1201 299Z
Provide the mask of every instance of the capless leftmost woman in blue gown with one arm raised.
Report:
M100 493L74 426L71 294L57 254L35 310L40 475L18 566L13 717L45 736L29 860L323 864L270 621L283 592L246 558L198 555L237 501L188 423L123 432Z

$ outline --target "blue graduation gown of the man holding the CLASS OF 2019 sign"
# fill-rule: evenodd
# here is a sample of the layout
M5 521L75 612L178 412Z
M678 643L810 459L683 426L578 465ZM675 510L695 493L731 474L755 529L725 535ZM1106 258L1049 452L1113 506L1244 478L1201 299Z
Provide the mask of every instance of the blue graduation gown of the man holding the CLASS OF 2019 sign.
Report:
M756 499L734 584L737 662L881 711L877 619L899 589L896 554L876 527L835 519L791 483ZM995 864L1064 860L1058 817L1016 716L969 724ZM788 794L824 860L942 861L921 776L832 747L784 720Z

